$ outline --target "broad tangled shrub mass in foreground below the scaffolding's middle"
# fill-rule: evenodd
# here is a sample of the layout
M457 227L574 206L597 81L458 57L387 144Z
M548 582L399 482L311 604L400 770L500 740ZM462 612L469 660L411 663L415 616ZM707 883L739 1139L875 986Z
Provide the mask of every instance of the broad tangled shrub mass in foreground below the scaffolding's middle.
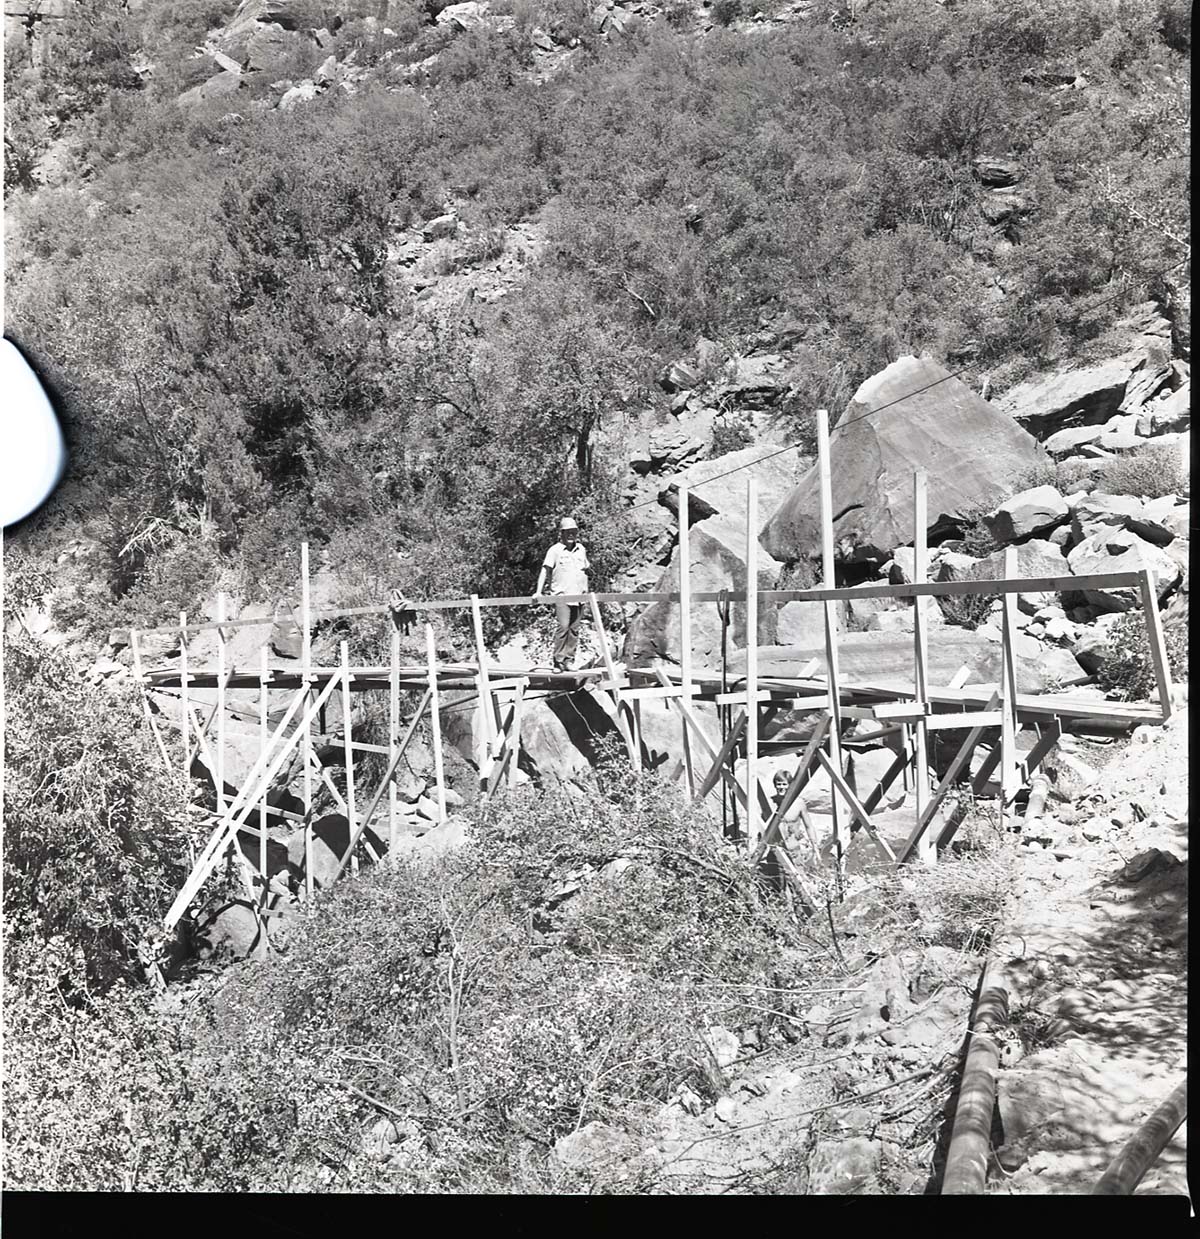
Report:
M213 1021L187 1022L253 1129L213 1151L209 1182L284 1186L289 1167L292 1186L338 1189L544 1187L536 1151L581 1124L635 1124L682 1083L711 1095L703 1027L759 1022L737 983L806 966L744 860L654 781L493 802L473 831L323 896L286 957L230 974ZM296 1111L281 1053L312 1090ZM412 1115L383 1162L363 1140L380 1105ZM521 1168L529 1150L540 1170Z

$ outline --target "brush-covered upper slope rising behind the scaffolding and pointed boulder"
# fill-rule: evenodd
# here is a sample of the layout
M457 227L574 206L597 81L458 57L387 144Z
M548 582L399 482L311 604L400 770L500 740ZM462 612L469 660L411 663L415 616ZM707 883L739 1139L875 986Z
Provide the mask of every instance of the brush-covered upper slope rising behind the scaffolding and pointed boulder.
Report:
M14 35L9 331L74 461L14 561L89 556L68 629L271 603L302 538L342 601L521 592L565 509L649 581L665 478L811 450L905 354L1034 430L1022 384L1072 372L1054 452L1137 434L1077 425L1129 416L1133 307L1188 358L1169 0L80 0Z

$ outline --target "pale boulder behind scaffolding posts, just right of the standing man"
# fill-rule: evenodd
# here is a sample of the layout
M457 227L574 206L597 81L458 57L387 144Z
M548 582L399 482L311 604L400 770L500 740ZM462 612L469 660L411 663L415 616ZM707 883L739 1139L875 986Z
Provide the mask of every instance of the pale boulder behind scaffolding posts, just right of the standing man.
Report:
M691 587L693 592L746 589L746 517L712 517L692 525L689 538L691 559ZM783 564L759 551L758 585L773 590ZM679 548L663 574L655 592L679 592ZM758 616L758 642L775 641L776 610L762 607ZM696 605L692 611L692 658L697 667L721 665L722 621L712 602ZM728 649L744 647L746 603L734 602L729 607ZM623 657L630 665L645 665L654 659L679 663L679 605L654 602L629 626Z

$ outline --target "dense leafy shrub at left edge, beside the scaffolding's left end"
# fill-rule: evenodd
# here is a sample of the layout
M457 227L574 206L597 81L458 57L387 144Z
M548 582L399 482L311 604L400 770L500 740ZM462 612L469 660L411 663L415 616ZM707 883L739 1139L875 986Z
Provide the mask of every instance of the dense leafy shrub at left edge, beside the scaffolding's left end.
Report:
M5 698L5 970L76 996L140 979L187 865L183 789L133 694L63 654L7 641Z

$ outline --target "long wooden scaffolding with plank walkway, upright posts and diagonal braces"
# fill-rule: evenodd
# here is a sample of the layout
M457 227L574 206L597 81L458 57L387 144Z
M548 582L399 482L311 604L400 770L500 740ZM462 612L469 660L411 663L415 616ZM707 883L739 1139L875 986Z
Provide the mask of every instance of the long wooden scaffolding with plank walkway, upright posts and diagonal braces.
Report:
M490 797L502 787L518 779L521 753L521 721L530 701L546 694L588 691L608 698L609 712L615 721L625 752L634 768L643 768L644 747L640 735L640 706L648 700L666 704L680 726L682 760L676 763L674 777L681 778L697 800L728 797L737 807L744 833L739 833L748 859L758 865L768 857L779 866L789 885L804 902L814 903L800 867L789 852L784 821L795 808L805 836L814 854L817 840L805 809L802 792L820 771L832 788L832 857L841 872L846 847L852 833L862 830L887 865L910 860L936 862L937 849L944 846L957 826L956 788L965 782L981 792L998 772L999 813L1006 825L1014 820L1022 789L1027 788L1041 761L1054 748L1064 731L1131 730L1139 724L1162 724L1172 711L1172 681L1163 642L1154 579L1148 569L1137 572L1113 572L1095 576L1029 577L1017 571L1017 553L1009 548L1004 555L1001 580L929 581L925 545L926 496L921 472L913 479L914 572L911 584L869 585L853 589L837 587L833 580L833 520L828 470L828 425L824 411L819 415L819 461L822 525L822 582L805 590L760 590L758 581L758 496L753 479L747 483L747 545L746 587L742 590L692 591L689 539L689 492L679 492L679 563L677 592L572 595L554 601L580 603L588 608L598 638L602 665L583 672L554 672L536 667L503 667L494 663L483 638L484 608L529 607L546 600L533 597L450 598L414 602L417 611L469 612L474 659L440 662L433 628L425 623L425 660L402 664L399 632L393 629L390 659L385 665L355 665L350 662L348 643L339 647L337 665L312 663L313 626L320 621L353 620L388 615L386 605L331 610L316 613L310 605L308 548L301 549L300 616L301 646L298 660L281 665L271 663L264 643L259 665L238 668L229 663L227 646L232 629L249 624L271 626L272 620L227 620L225 602L218 601L214 622L188 623L186 613L178 626L147 629L152 633L177 633L180 657L177 667L147 669L141 655L146 632L130 636L135 675L142 688L145 716L152 729L159 751L168 768L181 769L191 777L192 762L201 757L207 767L215 795L215 812L209 815L211 834L203 849L192 860L191 873L178 892L166 917L172 929L196 900L206 881L233 852L241 870L246 896L253 906L267 906L267 819L295 820L303 828L306 893L313 891L313 789L322 783L349 823L349 845L341 854L326 885L349 865L355 869L360 846L364 855L379 860L372 849L369 831L376 819L386 817L388 849L394 852L400 834L411 829L412 810L396 793L396 776L409 746L422 721L427 721L432 752L433 784L437 819L446 819L446 774L443 768L442 711L445 694L456 694L454 707L473 704L478 711L479 794ZM1077 592L1081 590L1136 590L1146 616L1149 648L1158 690L1157 706L1096 701L1084 696L1023 694L1018 685L1013 654L1017 632L1017 600L1022 593ZM968 595L999 596L1001 611L1001 675L997 684L968 685L970 673L963 669L946 685L929 680L929 627L926 607L930 598ZM848 681L838 669L838 602L864 598L907 600L913 603L913 676L911 685L897 688L892 683L872 684ZM602 603L649 605L656 602L679 606L681 658L677 670L627 668L615 657L604 628ZM692 652L692 618L697 606L731 602L746 607L746 670L732 685L722 683L712 669L697 668ZM759 674L758 621L762 608L786 602L819 602L824 615L825 670L816 674L816 660L789 676ZM199 632L217 636L217 665L192 667L188 638ZM298 662L298 665L296 665ZM193 693L215 690L217 700L207 719ZM239 693L254 691L258 709L233 704ZM353 693L388 694L388 743L369 745L355 741L350 727L350 696ZM151 705L151 695L177 696L167 710ZM270 694L284 695L282 716L270 726L267 709ZM313 725L326 704L341 695L343 716L344 792L329 778L328 771L313 755ZM401 727L401 695L416 699L407 722ZM276 700L279 696L276 698ZM710 738L698 715L702 709L736 711L723 742ZM811 733L804 741L764 742L763 722L781 709L798 709L814 720ZM172 719L172 714L175 717ZM259 732L259 757L230 794L225 783L225 720L229 714L255 717ZM842 741L846 729L862 720L872 720L879 730L872 738L890 735L899 737L899 752L879 784L859 799L846 777ZM177 753L163 737L162 722L173 721L178 731ZM940 730L965 732L941 779L930 777L930 733ZM1032 748L1018 747L1022 730L1035 732ZM986 737L996 736L982 764L970 774L970 762ZM798 763L781 795L772 797L759 778L759 758L764 753L798 755ZM300 756L302 772L302 812L291 813L269 808L267 792L285 768ZM355 778L355 758L379 755L386 758L384 774L373 788L362 794ZM741 758L738 762L736 758ZM741 773L738 773L741 764ZM873 814L897 779L904 779L913 792L915 805L913 826L908 838L893 846L877 829ZM365 805L365 808L363 808ZM249 819L256 814L256 825ZM239 835L258 836L258 854L253 846L238 846ZM378 843L378 838L376 838ZM248 855L249 852L249 855Z

